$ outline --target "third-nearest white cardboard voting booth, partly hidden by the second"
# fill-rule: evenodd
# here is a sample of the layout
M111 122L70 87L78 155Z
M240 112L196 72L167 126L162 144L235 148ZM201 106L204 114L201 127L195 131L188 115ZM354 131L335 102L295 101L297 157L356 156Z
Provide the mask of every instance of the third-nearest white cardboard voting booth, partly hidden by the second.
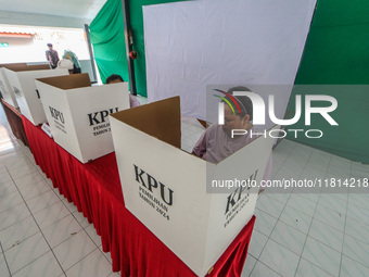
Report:
M21 112L34 125L47 122L35 79L51 76L68 75L67 70L50 70L48 64L26 65L13 70L4 68Z

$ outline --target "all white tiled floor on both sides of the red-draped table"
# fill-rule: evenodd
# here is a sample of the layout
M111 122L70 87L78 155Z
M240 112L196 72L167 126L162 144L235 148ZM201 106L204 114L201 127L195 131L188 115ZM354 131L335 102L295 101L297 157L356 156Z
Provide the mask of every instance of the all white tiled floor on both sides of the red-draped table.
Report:
M190 152L202 129L182 121ZM273 153L275 179L368 175L369 165L289 140ZM258 199L242 276L369 276L369 193L297 192L267 189ZM1 277L118 276L93 226L13 138L1 108L0 244Z

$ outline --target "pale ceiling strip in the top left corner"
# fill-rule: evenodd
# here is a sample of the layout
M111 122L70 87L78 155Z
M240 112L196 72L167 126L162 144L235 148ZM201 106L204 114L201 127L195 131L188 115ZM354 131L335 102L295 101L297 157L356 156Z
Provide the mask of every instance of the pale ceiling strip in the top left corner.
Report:
M92 20L105 2L106 0L0 0L0 11Z

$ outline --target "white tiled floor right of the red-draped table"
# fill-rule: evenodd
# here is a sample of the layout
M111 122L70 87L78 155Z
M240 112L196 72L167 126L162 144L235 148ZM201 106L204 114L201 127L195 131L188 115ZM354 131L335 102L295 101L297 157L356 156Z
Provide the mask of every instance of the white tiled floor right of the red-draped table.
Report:
M368 178L369 165L283 140L273 152L272 179L283 177ZM267 189L256 204L242 276L369 276L369 189L361 191Z

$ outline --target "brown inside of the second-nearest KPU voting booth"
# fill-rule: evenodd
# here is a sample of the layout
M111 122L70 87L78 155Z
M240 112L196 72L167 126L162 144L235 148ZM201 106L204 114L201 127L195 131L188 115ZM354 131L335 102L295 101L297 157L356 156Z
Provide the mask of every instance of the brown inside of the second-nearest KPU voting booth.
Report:
M37 79L60 89L90 87L91 81L87 73Z

